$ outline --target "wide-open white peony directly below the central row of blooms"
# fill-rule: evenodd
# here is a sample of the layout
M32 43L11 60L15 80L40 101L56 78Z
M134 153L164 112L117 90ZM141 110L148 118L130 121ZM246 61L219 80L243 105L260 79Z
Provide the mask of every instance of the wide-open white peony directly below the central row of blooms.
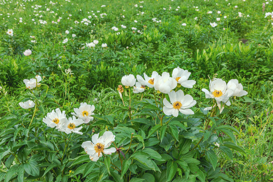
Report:
M193 100L193 97L190 95L184 95L182 90L177 92L171 91L169 94L170 102L166 98L163 100L163 112L166 115L173 115L174 117L178 116L178 111L182 114L189 115L194 114L194 112L189 109L196 104L196 101Z

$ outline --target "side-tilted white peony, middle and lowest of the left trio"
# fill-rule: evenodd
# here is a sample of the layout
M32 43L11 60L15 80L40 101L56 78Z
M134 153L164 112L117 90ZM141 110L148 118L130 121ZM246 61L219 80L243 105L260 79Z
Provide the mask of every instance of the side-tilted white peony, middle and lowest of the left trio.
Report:
M77 126L81 125L82 123L84 123L84 121L82 119L76 119L75 116L72 116L72 118L68 118L68 120L66 119L64 124L62 125L62 127L60 127L58 129L58 131L62 131L65 132L66 134L69 134L71 132L77 133L77 134L82 134L81 128L82 126L76 128ZM57 128L57 127L56 127Z

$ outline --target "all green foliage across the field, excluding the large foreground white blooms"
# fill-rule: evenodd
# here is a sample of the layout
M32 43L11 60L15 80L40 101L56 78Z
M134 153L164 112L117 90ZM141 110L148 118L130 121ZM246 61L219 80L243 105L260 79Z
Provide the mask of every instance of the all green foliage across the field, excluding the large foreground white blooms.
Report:
M272 0L0 0L0 35L0 181L273 181ZM164 115L167 93L121 82L177 67L196 81L175 88L197 103L180 120ZM26 89L35 75L40 87ZM209 115L202 88L215 77L248 94ZM34 109L20 107L28 100ZM42 122L80 103L96 108L82 135ZM82 142L108 129L121 153L89 162Z

